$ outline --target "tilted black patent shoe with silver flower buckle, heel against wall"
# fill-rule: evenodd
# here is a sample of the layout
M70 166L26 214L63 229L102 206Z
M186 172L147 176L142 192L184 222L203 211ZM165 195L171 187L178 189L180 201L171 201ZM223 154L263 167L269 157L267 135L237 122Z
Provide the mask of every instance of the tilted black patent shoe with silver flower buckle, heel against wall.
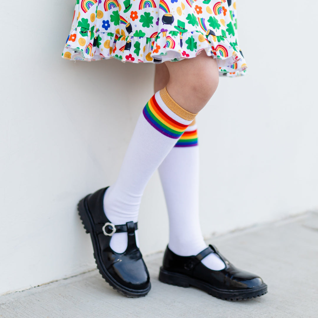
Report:
M78 204L84 228L91 235L97 268L109 285L121 294L128 297L145 296L151 285L146 264L136 245L137 223L131 221L114 225L108 220L103 207L107 188L87 195ZM123 253L117 253L109 246L115 232L127 232L128 246Z

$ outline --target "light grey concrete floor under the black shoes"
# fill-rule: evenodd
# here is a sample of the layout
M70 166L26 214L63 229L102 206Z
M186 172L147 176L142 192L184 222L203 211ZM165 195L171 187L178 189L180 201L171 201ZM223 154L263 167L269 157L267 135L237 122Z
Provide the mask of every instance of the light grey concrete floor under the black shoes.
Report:
M268 294L222 301L195 288L158 281L162 253L145 258L146 297L121 296L97 270L0 297L0 317L318 317L318 214L307 213L213 239L237 267L259 274Z

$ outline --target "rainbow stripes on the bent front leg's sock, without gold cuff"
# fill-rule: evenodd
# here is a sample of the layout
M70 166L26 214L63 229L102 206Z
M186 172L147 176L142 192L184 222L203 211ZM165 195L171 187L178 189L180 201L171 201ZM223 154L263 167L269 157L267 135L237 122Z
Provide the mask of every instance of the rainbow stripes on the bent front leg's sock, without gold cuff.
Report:
M169 138L178 139L188 127L167 115L158 105L155 95L150 98L142 113L153 128Z

